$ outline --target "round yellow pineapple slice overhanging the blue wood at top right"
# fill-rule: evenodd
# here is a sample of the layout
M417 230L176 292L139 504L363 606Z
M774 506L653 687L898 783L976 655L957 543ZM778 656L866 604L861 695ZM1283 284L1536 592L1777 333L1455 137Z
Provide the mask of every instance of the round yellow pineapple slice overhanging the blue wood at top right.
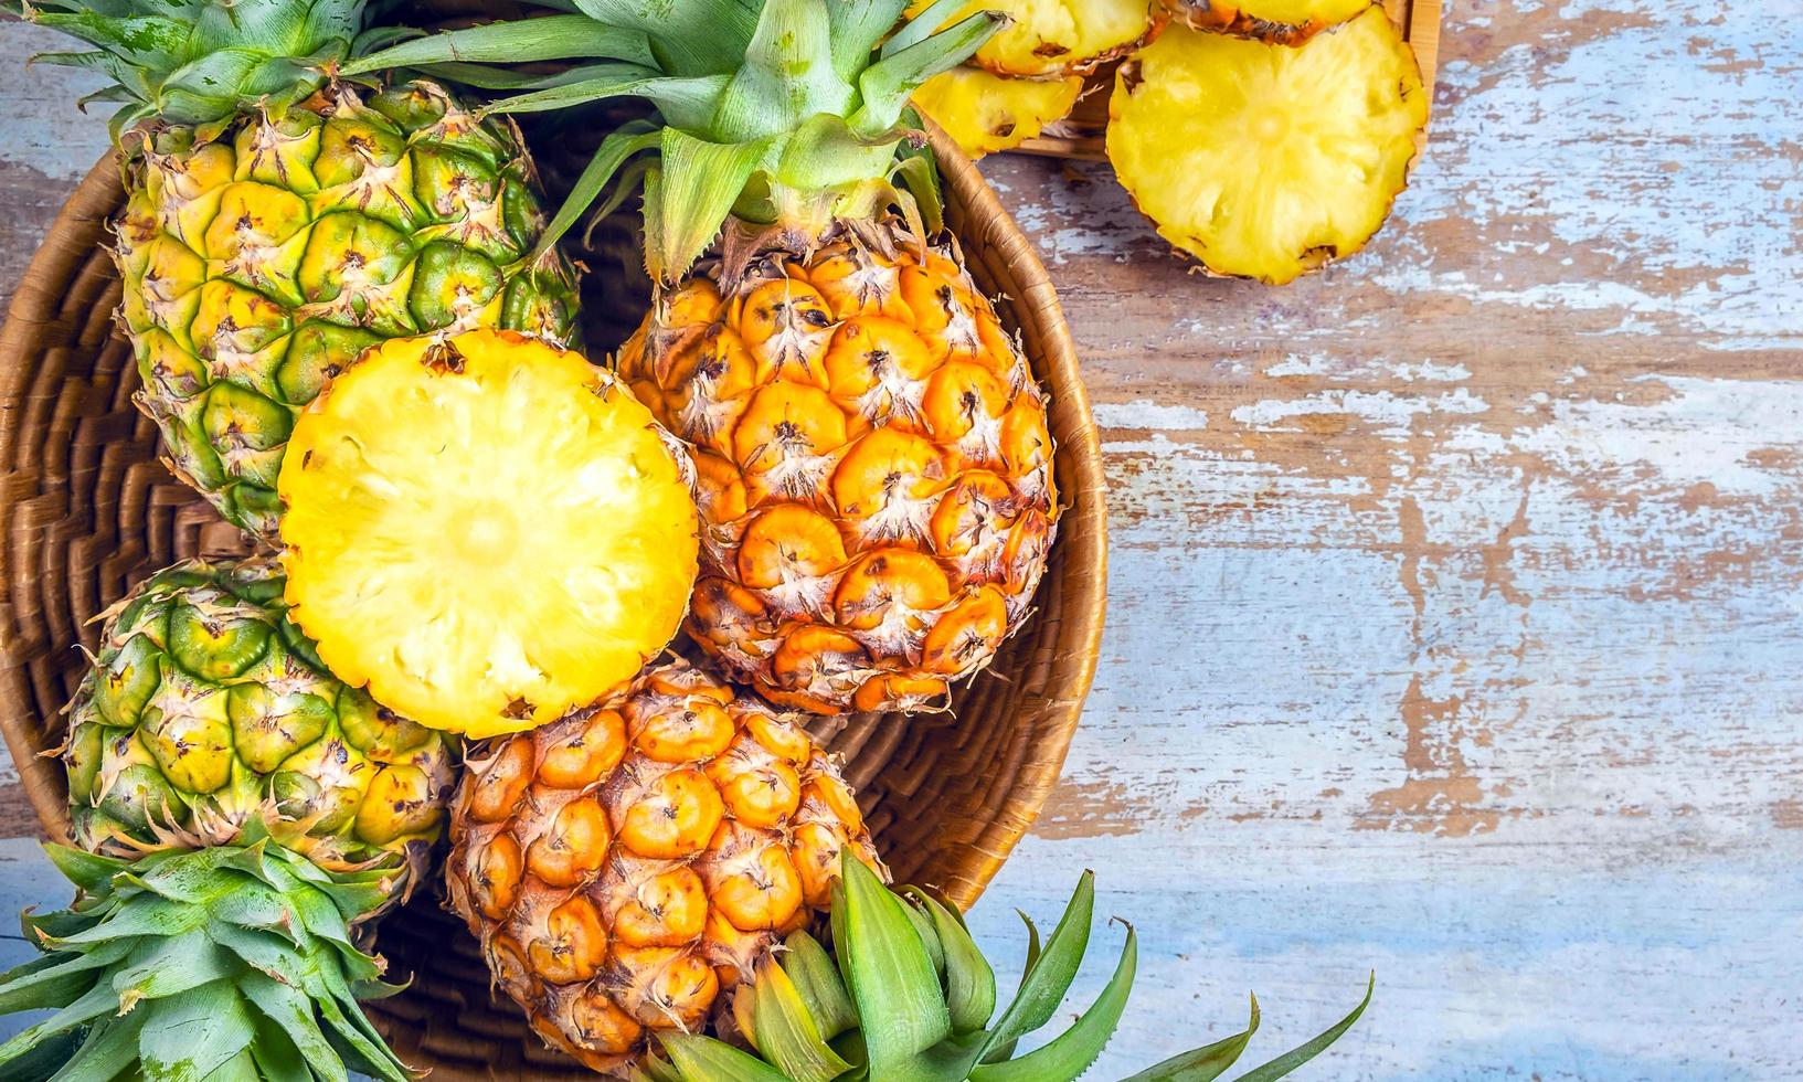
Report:
M1365 247L1426 123L1415 54L1370 7L1296 49L1172 27L1120 67L1107 144L1159 236L1282 285Z

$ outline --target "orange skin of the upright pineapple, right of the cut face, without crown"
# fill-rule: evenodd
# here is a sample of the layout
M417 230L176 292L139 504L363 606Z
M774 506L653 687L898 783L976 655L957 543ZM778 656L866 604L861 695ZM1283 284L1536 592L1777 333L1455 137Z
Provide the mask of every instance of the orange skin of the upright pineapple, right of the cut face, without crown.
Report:
M927 711L1030 611L1058 505L1046 397L950 243L837 225L654 307L620 373L694 445L689 633L819 712Z

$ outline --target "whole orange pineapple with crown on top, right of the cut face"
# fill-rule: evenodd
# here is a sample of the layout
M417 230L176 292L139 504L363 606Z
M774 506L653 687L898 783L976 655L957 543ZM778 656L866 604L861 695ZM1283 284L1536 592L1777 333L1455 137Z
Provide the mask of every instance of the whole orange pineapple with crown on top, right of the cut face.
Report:
M671 27L627 27L674 78L494 106L644 94L664 112L577 186L660 151L638 166L662 290L620 375L694 445L689 633L732 678L822 712L941 707L1026 619L1058 514L1046 399L956 243L925 236L929 160L898 159L920 139L909 94L999 16L894 29L903 7L768 0L696 41L678 4ZM438 41L454 56L454 32Z

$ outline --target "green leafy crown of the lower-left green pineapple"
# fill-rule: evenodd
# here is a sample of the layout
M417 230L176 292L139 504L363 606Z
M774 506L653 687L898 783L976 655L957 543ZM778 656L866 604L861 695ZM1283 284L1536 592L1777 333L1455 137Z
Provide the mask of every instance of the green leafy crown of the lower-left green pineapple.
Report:
M54 1013L0 1044L0 1075L411 1078L357 1006L400 990L357 943L393 869L325 871L256 830L139 860L45 851L79 894L23 916L43 954L0 974L0 1013Z

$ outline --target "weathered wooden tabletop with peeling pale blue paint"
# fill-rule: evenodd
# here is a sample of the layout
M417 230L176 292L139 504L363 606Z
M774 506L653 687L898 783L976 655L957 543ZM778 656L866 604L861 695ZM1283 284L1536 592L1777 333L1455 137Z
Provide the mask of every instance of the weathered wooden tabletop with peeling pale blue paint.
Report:
M1803 1078L1799 18L1451 4L1396 220L1282 290L1186 274L1105 166L984 162L1107 426L1114 588L975 927L1098 869L1143 954L1094 1077L1248 988L1277 1051L1374 968L1302 1077ZM103 144L43 47L0 25L0 292ZM0 907L58 902L4 777Z

